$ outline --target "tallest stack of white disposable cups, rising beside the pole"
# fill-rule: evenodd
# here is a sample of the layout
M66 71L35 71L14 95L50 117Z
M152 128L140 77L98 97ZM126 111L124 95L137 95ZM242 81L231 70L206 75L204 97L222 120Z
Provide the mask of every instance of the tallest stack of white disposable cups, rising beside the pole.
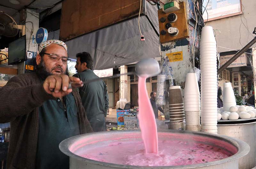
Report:
M204 26L200 40L201 131L217 134L217 49L212 26Z

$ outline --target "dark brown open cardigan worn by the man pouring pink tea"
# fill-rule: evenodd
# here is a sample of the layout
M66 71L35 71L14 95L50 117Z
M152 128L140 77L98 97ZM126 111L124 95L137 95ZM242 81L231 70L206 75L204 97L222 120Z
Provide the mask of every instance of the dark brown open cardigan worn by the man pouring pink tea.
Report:
M79 93L73 89L72 94L78 109L80 134L93 132ZM35 169L38 107L48 99L54 98L44 91L43 80L36 73L12 77L0 89L0 123L11 122L8 169Z

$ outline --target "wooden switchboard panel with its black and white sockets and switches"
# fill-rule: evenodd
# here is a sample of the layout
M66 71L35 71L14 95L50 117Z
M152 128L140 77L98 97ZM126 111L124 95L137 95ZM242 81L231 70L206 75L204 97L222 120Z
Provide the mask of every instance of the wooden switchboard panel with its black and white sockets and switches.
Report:
M179 10L172 11L171 13L165 13L164 9L158 10L161 43L189 37L185 2L180 2L179 8Z

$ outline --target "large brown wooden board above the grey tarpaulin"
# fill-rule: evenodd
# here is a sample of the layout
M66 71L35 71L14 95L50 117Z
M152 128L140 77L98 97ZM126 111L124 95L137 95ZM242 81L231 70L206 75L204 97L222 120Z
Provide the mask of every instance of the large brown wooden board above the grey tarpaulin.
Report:
M141 13L144 12L142 0ZM60 40L67 41L139 15L140 0L65 0Z

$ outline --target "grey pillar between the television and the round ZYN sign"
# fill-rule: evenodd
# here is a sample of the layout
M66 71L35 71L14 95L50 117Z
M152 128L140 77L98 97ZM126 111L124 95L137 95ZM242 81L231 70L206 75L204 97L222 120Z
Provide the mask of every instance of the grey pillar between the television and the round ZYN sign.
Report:
M27 40L27 52L36 52L37 51L37 44L36 40L33 40L33 35L34 38L36 38L36 32L39 28L39 13L36 13L36 10L32 9L26 9L27 13L27 18L26 18L26 40ZM32 23L33 24L32 24ZM34 27L34 31L33 31ZM32 34L31 34L32 33ZM35 56L33 56L34 58ZM24 73L25 70L25 62L20 62L18 63L18 74Z

